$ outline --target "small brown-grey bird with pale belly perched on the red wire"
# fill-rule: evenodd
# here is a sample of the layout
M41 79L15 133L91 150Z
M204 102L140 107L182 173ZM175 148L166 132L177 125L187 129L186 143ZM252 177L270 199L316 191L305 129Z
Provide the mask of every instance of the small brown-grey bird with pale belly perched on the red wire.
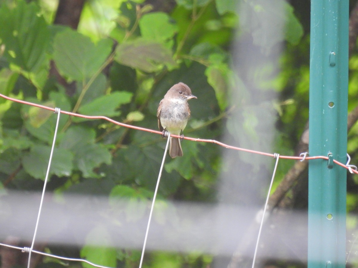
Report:
M163 131L163 138L166 137L166 131L173 135L183 133L190 117L189 99L197 99L197 97L192 95L189 86L182 82L172 86L164 95L157 111L158 127ZM179 138L170 137L169 144L169 155L171 158L183 156Z

